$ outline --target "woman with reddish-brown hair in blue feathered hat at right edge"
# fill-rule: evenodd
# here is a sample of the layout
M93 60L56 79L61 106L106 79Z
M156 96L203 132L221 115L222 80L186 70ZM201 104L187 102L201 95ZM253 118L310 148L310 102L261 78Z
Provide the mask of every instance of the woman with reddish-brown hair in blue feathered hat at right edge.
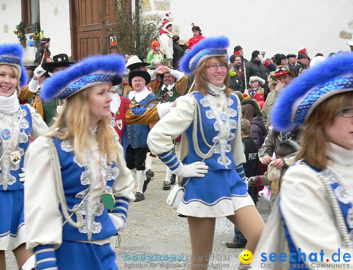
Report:
M283 176L252 267L284 252L277 269L353 269L353 54L325 60L284 88L272 124L281 131L303 126L302 148Z

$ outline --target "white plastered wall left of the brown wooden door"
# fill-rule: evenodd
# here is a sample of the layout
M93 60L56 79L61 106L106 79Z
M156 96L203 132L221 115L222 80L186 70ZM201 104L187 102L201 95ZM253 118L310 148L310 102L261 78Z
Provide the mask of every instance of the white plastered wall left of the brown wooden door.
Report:
M41 29L45 37L50 37L51 55L71 56L69 0L40 0L39 7ZM0 43L18 43L13 31L22 20L21 12L21 0L0 0ZM29 34L26 36L28 43ZM25 47L24 57L25 62L33 62L34 47Z

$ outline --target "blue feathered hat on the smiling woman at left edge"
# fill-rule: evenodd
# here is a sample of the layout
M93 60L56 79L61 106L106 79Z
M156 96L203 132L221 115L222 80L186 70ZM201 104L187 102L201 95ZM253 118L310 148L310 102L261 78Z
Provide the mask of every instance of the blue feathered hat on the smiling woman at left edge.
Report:
M28 81L28 76L23 65L23 51L23 47L20 44L0 45L0 65L11 65L18 69L21 88Z

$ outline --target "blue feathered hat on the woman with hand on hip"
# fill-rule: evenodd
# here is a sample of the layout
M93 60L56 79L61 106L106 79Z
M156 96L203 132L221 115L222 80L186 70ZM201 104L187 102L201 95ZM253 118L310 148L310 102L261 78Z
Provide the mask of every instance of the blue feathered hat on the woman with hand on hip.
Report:
M180 70L190 75L207 58L225 56L228 59L228 47L229 40L225 36L205 38L180 59Z

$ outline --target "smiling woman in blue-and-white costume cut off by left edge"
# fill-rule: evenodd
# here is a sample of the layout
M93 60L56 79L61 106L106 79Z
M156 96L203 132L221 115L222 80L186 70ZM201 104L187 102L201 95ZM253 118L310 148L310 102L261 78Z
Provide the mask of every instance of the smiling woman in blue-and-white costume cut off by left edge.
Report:
M25 250L24 184L21 168L30 138L48 132L42 117L17 98L27 83L23 47L0 45L0 270L4 250L12 250L19 267L30 257Z

